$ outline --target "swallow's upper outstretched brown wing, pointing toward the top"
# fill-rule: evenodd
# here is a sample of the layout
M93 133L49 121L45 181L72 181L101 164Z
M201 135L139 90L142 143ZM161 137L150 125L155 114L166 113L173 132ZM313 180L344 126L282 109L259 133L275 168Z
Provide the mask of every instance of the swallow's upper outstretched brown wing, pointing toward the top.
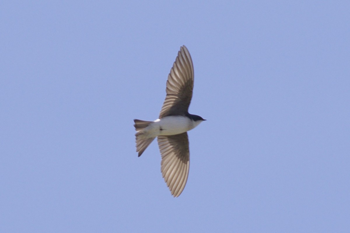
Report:
M167 96L159 119L171 115L185 115L192 99L193 63L185 45L181 46L167 80Z

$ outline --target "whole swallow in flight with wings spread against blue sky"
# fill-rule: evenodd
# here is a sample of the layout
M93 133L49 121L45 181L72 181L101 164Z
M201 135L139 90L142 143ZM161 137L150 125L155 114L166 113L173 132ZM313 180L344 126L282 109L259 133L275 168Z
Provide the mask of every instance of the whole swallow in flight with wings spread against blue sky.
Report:
M136 152L139 157L149 144L158 137L162 155L161 171L170 192L178 197L185 188L190 164L187 131L205 121L189 114L194 82L190 53L183 45L177 54L167 80L167 96L155 121L134 119Z

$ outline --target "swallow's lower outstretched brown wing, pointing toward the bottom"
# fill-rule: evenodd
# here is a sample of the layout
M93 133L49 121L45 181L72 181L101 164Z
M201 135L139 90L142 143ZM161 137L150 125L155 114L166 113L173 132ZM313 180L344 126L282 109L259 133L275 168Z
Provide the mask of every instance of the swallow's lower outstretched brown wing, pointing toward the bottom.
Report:
M185 188L190 168L190 151L187 132L158 136L162 155L161 171L172 195L178 197Z

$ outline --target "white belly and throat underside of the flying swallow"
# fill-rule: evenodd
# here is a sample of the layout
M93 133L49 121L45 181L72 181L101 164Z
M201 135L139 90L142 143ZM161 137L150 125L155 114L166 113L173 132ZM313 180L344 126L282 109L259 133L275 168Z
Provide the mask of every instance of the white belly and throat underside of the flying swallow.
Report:
M166 136L182 134L190 129L193 129L195 125L193 121L188 117L182 116L169 116L162 119L155 120L152 124L145 128L147 137Z

